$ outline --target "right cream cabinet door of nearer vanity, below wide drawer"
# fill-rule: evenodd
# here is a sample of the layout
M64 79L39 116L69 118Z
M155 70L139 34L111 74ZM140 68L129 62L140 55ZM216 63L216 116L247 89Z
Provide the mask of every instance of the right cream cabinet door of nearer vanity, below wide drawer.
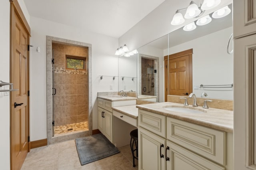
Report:
M166 141L166 170L225 170L224 167L207 160L194 152Z

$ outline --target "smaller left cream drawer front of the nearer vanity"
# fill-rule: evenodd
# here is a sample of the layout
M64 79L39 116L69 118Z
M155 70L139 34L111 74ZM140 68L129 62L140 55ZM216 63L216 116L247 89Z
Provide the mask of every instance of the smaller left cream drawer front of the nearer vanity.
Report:
M139 109L138 125L162 137L165 137L165 119L163 115Z

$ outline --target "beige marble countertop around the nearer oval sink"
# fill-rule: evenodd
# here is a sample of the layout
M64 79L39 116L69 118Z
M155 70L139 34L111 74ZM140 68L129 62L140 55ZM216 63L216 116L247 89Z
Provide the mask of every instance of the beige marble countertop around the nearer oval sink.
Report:
M184 106L183 104L171 102L137 105L136 107L138 109L158 113L160 115L165 115L190 123L195 123L197 125L222 130L225 132L233 132L233 111L212 108L203 109L202 107ZM203 113L180 113L168 111L164 109L166 107L189 108L203 111Z

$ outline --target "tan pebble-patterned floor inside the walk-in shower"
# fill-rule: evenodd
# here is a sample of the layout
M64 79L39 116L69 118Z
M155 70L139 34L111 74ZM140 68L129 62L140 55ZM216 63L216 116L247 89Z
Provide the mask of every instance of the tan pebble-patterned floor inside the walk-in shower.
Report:
M54 134L64 134L69 132L87 131L88 122L72 123L69 125L62 125L54 127Z

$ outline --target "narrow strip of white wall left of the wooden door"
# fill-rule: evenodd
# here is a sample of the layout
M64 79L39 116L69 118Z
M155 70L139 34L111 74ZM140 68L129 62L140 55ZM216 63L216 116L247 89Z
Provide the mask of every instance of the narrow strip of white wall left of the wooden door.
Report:
M10 82L10 2L2 0L0 2L0 50L1 66L0 80ZM4 89L4 87L0 87ZM4 96L0 92L0 164L1 169L10 169L10 96Z

